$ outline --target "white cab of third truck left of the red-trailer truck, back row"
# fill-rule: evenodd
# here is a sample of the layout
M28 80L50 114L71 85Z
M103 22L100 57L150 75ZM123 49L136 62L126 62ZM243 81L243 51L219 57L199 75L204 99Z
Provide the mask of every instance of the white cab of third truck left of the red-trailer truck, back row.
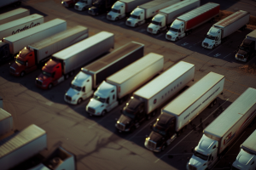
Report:
M120 20L125 17L125 3L117 1L107 15L108 20Z

